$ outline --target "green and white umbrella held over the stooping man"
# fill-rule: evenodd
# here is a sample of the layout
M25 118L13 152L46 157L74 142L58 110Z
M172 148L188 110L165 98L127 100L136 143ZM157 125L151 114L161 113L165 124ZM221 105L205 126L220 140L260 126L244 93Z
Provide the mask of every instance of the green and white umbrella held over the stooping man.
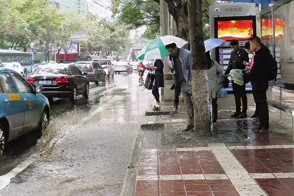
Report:
M137 59L139 60L153 60L162 59L170 54L169 50L165 48L166 45L175 43L178 48L182 48L188 42L172 36L166 35L162 37L157 37L151 40L138 54Z

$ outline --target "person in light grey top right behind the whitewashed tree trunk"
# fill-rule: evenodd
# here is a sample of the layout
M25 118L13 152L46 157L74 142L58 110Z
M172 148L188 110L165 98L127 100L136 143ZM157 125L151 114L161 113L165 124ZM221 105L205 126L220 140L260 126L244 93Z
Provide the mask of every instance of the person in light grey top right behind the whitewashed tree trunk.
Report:
M211 120L212 123L216 123L218 120L218 96L220 91L220 82L221 82L221 66L217 61L211 59L210 52L206 52L206 61L207 61L207 76L208 84L211 95Z

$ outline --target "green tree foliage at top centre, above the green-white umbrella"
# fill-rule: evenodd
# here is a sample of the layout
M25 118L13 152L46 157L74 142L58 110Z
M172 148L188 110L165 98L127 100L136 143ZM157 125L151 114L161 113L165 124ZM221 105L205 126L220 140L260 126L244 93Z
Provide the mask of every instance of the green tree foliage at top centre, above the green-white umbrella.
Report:
M152 39L160 33L159 0L111 0L113 17L129 29L147 26L143 37Z

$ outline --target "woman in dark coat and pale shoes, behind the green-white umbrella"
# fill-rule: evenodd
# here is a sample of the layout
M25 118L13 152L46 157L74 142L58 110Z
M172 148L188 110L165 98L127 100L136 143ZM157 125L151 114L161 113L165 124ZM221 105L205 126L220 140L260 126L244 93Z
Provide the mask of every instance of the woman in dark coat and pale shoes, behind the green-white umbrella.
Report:
M164 87L164 77L163 77L163 61L161 59L156 59L153 66L149 67L151 70L155 70L155 79L152 87L152 95L156 99L155 108L160 108L159 100L159 90L158 88Z

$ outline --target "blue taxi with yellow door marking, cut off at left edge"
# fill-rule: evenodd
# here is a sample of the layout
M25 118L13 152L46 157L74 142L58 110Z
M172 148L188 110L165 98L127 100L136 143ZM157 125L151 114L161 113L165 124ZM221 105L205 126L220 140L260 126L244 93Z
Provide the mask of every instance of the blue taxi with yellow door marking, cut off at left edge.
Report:
M19 73L0 68L0 154L8 142L49 124L49 101Z

